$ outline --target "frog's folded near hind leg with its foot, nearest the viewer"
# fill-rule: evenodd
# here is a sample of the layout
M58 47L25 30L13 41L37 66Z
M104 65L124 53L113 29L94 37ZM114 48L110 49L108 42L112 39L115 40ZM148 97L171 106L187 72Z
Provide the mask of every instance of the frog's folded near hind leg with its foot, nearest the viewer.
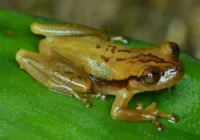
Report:
M19 50L16 60L39 83L58 92L73 95L86 107L91 106L88 98L101 97L99 94L88 93L92 86L89 76L70 61L43 57L26 50Z

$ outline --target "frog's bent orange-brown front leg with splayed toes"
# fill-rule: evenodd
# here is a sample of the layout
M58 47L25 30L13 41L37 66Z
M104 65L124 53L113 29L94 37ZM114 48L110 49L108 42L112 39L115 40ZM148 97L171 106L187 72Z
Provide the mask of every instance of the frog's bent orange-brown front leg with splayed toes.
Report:
M139 104L139 109L127 108L133 95L133 93L124 90L123 93L116 96L111 110L111 116L113 118L126 121L152 121L159 131L162 130L162 125L157 120L158 116L167 118L170 122L175 123L175 116L156 109L157 104L155 102L145 109L142 108L141 103Z

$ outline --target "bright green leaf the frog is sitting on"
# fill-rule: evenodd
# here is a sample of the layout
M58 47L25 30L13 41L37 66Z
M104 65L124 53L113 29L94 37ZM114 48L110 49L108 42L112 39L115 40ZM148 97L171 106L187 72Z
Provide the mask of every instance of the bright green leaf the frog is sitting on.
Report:
M131 101L130 107L135 101L145 105L157 101L159 109L179 116L177 124L160 118L165 129L158 132L151 122L113 120L113 97L109 101L92 99L94 106L86 109L75 98L50 91L21 70L15 61L16 51L37 51L41 39L30 32L30 24L35 21L55 22L0 10L0 139L200 139L199 61L182 54L186 72L171 92L163 90L160 96L141 93ZM130 40L129 46L152 45Z

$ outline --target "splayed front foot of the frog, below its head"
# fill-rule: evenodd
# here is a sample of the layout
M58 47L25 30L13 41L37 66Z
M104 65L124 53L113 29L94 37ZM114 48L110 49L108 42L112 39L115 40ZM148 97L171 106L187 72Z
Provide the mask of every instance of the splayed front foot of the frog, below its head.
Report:
M158 131L161 131L163 128L162 125L157 120L158 116L167 118L168 121L171 123L176 123L177 118L174 114L167 114L165 112L162 112L162 111L156 109L156 106L157 106L157 103L153 102L151 105L149 105L147 108L143 109L142 111L144 111L144 114L149 115L146 117L152 121L152 123L158 129Z

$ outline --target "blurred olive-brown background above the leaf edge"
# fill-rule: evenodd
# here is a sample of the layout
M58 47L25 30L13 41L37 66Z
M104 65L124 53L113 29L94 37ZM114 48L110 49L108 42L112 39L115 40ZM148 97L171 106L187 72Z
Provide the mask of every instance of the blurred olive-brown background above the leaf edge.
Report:
M200 58L199 0L0 0L0 8L106 27L154 44L174 41Z

